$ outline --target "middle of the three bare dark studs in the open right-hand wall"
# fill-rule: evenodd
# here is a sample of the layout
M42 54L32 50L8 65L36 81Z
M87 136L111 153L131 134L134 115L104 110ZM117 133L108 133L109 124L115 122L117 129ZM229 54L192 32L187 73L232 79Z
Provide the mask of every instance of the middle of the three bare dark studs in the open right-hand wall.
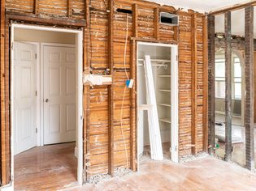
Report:
M232 48L231 12L225 13L225 160L232 159Z

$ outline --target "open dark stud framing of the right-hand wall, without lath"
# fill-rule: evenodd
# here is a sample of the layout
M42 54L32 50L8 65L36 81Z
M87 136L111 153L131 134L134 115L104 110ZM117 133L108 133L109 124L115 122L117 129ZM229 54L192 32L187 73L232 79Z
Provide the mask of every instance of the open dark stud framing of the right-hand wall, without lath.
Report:
M245 160L246 168L253 170L254 167L254 5L255 1L232 6L227 9L215 11L208 16L209 34L209 93L215 95L215 42L216 47L225 49L226 60L226 144L225 159L232 159L232 128L231 128L231 83L232 49L238 49L242 54L245 52ZM245 40L231 38L231 11L245 8ZM225 40L215 38L215 16L225 14ZM216 41L215 41L216 40ZM209 95L209 143L210 148L215 144L215 96ZM214 150L210 149L214 154Z

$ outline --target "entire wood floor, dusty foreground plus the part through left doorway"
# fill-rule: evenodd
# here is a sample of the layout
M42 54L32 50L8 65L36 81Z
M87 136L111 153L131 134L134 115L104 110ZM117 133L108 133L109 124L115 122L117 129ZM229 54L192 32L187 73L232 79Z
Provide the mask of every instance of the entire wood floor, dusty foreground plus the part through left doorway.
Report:
M15 190L256 190L255 173L210 156L187 163L143 156L137 173L75 187L74 146L37 147L15 156Z

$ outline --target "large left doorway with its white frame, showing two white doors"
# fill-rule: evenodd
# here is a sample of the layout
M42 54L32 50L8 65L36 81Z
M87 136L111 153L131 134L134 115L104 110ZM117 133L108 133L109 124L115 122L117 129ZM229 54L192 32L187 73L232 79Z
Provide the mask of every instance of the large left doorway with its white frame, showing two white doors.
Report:
M82 31L11 25L11 184L82 185Z

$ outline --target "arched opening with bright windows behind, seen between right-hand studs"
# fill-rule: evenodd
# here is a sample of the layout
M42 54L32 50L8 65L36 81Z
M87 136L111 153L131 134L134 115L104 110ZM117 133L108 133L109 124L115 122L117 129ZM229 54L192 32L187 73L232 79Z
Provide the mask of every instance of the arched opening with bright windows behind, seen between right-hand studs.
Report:
M245 166L245 79L244 58L232 50L232 161ZM216 155L225 157L225 52L215 53Z

